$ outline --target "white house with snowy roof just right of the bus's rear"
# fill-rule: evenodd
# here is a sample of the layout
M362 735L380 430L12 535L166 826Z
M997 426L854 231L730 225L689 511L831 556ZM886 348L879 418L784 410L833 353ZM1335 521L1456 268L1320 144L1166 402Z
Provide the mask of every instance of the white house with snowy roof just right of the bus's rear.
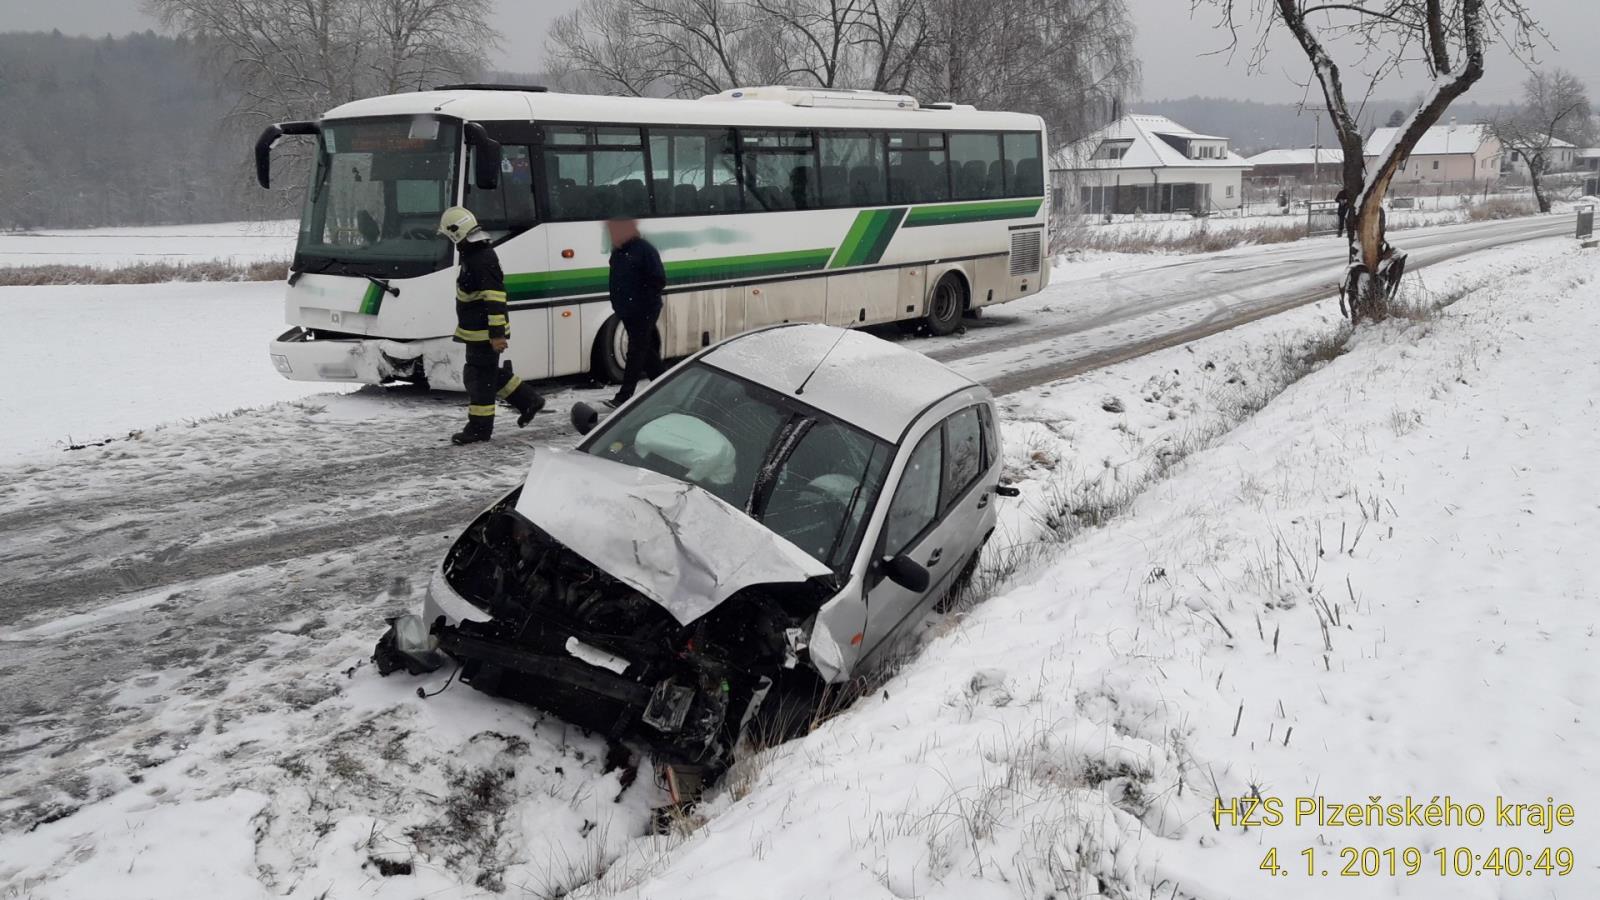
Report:
M1051 200L1091 215L1237 210L1246 168L1227 138L1133 114L1051 155Z

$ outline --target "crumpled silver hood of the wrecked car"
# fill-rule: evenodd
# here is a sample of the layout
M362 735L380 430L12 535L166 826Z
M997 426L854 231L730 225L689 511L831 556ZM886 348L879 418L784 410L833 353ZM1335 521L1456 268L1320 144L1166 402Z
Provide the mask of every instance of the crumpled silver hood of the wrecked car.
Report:
M832 573L704 488L581 452L536 450L517 512L682 625L752 585Z

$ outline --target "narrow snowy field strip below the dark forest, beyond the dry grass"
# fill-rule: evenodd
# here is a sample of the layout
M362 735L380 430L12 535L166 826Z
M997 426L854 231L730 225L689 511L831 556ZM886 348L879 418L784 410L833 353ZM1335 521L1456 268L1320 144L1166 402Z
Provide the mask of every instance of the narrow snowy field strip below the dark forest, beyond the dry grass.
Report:
M293 221L190 226L0 231L0 267L136 263L258 263L294 253Z

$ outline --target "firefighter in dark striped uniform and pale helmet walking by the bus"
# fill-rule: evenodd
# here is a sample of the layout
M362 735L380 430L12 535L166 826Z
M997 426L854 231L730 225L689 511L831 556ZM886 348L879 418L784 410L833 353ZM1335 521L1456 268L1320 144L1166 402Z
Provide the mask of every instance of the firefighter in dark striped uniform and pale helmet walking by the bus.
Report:
M494 400L517 408L522 428L544 408L544 397L502 367L499 354L510 340L506 317L506 275L490 235L478 227L470 210L451 207L438 219L438 234L461 251L461 274L456 275L456 340L467 344L462 383L467 386L467 428L450 437L451 444L477 444L494 434Z

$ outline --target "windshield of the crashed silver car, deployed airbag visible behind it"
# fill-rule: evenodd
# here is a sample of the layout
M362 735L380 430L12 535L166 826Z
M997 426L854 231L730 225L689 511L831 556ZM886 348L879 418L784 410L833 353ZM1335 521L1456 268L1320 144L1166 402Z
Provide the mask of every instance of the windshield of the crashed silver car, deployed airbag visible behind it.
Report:
M586 450L706 488L834 570L848 565L893 456L883 440L706 364L608 420Z

